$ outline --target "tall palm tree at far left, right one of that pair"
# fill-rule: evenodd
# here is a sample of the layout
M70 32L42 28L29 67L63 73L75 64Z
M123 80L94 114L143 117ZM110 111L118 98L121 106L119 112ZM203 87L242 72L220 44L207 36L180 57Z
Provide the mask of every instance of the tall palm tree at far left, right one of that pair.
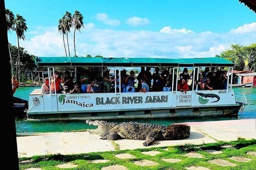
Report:
M27 30L26 19L23 16L16 15L13 22L13 30L15 30L18 39L18 58L16 61L16 75L18 75L18 81L20 81L20 40L25 40L24 32Z

